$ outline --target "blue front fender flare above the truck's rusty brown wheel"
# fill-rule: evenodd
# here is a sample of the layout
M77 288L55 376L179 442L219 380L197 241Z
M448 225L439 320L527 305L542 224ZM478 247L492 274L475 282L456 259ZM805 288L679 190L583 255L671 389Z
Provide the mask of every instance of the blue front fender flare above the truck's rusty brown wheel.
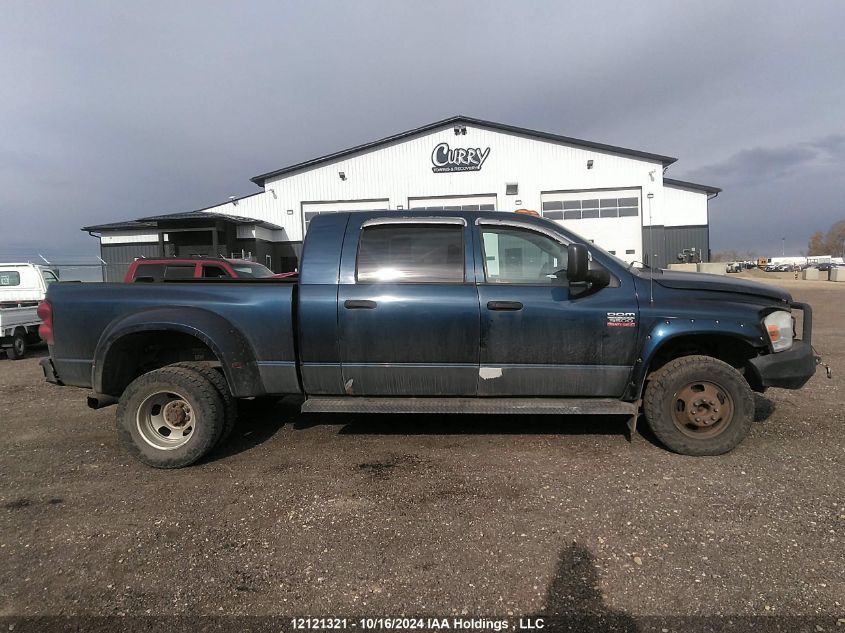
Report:
M763 349L766 341L759 330L759 323L751 319L685 319L664 318L647 330L640 349L642 350L631 374L625 399L636 400L642 395L649 367L660 349L680 337L700 336L729 337Z

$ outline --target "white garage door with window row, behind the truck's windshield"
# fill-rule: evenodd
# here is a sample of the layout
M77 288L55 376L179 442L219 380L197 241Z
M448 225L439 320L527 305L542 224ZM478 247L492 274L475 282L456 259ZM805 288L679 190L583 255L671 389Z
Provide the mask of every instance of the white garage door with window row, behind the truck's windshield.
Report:
M540 199L543 217L625 261L642 260L640 189L554 191Z

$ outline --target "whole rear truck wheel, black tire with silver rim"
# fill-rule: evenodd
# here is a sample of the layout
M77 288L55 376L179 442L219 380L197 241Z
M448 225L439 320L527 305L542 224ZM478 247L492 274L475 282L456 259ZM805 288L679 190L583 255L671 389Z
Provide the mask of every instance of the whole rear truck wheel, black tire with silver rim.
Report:
M132 381L117 407L117 432L135 459L182 468L208 453L223 432L225 405L204 376L165 367Z

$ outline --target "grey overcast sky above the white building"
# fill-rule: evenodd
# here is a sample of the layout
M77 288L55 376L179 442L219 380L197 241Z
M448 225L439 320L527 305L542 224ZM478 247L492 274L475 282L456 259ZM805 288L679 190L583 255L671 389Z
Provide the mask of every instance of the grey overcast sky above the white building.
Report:
M714 250L845 219L845 3L35 2L0 20L0 260L467 114L679 157Z

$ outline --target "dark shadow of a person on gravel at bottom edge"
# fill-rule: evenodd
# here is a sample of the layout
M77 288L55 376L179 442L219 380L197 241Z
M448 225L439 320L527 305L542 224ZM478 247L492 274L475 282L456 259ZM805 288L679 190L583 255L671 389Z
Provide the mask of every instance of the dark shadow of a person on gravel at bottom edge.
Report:
M595 557L573 542L558 554L542 610L526 616L544 631L639 631L633 617L604 603Z

